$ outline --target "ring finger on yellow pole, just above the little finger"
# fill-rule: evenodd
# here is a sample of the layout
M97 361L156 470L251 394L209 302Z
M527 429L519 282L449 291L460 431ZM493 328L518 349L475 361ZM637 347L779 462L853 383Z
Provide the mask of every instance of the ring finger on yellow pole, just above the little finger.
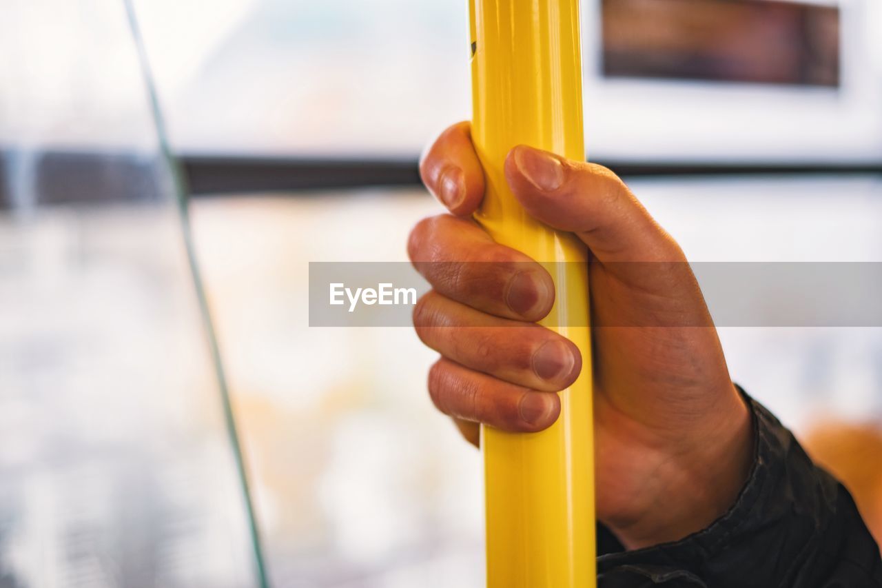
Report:
M416 333L445 358L512 384L557 392L576 381L579 349L547 328L499 319L436 292L414 310Z

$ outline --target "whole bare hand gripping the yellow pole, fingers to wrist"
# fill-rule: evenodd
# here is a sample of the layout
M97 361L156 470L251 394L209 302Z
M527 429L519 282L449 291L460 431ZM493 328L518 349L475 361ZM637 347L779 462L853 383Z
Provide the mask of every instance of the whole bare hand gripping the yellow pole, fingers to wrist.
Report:
M441 354L432 401L475 445L479 423L541 431L582 363L575 345L535 324L554 284L471 220L484 176L467 122L438 137L420 171L450 211L419 222L407 243L432 285L414 312L422 342ZM629 549L706 528L748 477L751 417L684 253L602 166L518 146L505 177L530 215L575 233L594 260L597 516Z

